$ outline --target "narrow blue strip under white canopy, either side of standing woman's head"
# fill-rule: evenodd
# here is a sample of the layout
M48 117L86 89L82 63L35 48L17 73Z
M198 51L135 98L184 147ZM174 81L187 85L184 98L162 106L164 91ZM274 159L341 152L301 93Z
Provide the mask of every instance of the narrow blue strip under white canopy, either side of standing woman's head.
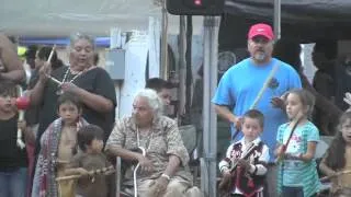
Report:
M57 45L67 46L69 45L69 38L67 37L55 37L55 38L39 38L39 37L20 37L19 43L21 46L30 45ZM97 47L110 47L110 37L97 37Z

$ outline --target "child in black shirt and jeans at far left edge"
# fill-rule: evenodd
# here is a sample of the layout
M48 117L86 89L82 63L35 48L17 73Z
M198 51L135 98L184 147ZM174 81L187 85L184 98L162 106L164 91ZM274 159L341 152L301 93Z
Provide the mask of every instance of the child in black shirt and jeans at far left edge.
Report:
M0 81L0 196L24 197L26 195L27 155L26 149L16 144L18 129L22 140L34 139L24 120L19 120L14 105L15 85Z

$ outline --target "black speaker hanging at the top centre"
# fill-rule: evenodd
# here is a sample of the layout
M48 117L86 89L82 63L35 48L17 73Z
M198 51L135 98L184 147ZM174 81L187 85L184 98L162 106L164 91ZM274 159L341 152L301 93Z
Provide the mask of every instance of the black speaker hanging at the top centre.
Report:
M167 0L166 7L173 15L220 15L224 0Z

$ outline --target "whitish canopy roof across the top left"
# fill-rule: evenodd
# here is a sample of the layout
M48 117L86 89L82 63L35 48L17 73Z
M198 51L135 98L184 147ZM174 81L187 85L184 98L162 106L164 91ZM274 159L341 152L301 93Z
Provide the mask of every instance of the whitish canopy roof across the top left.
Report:
M84 32L110 35L111 27L124 32L148 30L149 16L161 19L161 8L154 0L2 0L0 31L15 36L67 36ZM202 19L194 19L194 34L202 30ZM177 34L179 16L169 15L169 33Z

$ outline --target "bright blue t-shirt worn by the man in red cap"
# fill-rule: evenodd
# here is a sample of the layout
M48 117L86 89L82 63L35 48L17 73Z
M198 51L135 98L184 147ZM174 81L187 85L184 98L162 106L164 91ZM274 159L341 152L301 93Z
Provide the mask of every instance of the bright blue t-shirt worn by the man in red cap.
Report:
M285 112L273 107L271 99L281 96L288 90L302 88L301 79L293 67L275 58L262 66L256 66L251 58L245 59L226 71L212 100L217 105L234 106L233 113L236 116L242 116L250 109L275 63L279 65L279 68L256 107L264 115L264 128L261 138L270 148L271 161L274 161L273 150L278 127L287 121ZM234 134L235 129L231 124L231 135ZM242 134L240 132L237 139L241 137Z

